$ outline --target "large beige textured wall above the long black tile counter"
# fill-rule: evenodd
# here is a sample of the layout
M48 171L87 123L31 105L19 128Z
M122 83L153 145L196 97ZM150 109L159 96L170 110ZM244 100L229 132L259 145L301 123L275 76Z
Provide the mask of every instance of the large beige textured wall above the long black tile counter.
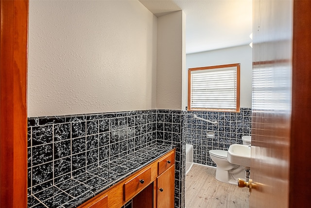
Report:
M30 0L28 116L155 109L156 30L138 0Z

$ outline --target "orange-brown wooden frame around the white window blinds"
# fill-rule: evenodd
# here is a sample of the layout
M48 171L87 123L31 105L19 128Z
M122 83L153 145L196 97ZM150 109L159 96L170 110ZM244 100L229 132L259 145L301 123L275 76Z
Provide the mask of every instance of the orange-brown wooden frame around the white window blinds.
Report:
M233 112L240 113L240 63L215 65L207 67L189 68L188 69L188 111L216 111L216 112ZM218 69L218 68L229 68L237 67L237 107L236 110L232 109L214 109L214 108L191 108L191 72L206 69Z

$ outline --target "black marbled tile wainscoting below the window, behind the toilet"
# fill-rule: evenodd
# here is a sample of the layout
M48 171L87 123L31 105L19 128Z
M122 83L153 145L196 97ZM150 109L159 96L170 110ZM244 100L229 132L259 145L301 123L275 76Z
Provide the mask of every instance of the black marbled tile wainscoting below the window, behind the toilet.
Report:
M218 125L193 118L193 114ZM241 108L240 113L188 111L187 112L187 144L193 145L193 162L214 166L209 150L228 150L231 144L242 144L242 136L251 135L251 108ZM207 132L214 132L208 136Z

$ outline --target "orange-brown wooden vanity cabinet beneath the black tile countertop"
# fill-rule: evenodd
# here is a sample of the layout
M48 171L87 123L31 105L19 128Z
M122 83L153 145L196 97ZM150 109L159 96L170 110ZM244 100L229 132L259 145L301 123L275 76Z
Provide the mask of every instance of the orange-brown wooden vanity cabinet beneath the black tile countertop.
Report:
M173 208L175 149L104 190L78 208Z

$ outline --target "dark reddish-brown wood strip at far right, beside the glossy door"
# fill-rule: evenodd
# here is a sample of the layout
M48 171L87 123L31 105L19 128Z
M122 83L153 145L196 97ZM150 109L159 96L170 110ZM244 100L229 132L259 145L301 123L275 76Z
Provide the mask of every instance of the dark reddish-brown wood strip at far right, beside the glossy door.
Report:
M289 207L311 203L311 1L294 0ZM309 26L307 26L309 25Z

